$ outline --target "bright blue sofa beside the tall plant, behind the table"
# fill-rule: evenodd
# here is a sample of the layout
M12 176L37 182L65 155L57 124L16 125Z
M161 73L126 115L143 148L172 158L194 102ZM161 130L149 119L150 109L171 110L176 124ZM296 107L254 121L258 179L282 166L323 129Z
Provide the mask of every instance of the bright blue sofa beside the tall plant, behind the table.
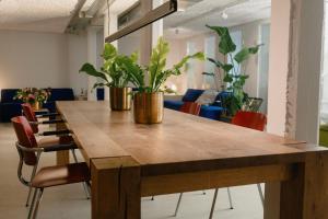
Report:
M204 90L197 90L197 89L188 89L186 94L183 96L181 101L164 101L164 106L166 108L171 108L174 111L179 111L183 106L184 102L195 102ZM218 94L214 103L212 105L202 105L200 108L200 116L220 120L221 114L223 113L224 108L221 105L221 100L223 96L229 95L227 92L221 92Z

